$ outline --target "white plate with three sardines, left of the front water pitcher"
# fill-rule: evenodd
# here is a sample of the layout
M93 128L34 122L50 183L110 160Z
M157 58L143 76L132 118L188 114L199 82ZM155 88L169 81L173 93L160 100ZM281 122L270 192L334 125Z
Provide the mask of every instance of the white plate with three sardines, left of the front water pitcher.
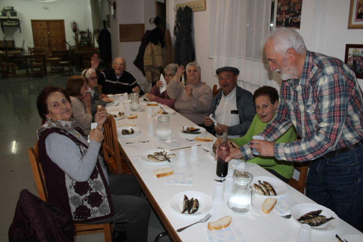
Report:
M188 212L181 213L181 212L183 212L184 194L187 195L189 200L191 198L198 199L199 209L197 210L197 212L192 213L192 214L188 214ZM193 216L193 215L200 215L203 213L207 213L213 207L213 201L210 196L208 196L207 194L205 194L203 192L185 191L185 192L179 192L179 193L175 194L170 200L170 206L177 213Z

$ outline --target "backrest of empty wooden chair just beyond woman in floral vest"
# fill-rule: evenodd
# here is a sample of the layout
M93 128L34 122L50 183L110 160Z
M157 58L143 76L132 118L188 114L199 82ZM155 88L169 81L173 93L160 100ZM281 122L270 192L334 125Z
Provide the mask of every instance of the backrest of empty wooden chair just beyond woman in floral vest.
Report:
M103 124L103 136L103 159L105 159L106 164L112 173L121 174L120 148L117 139L116 122L112 115L107 115L107 119Z

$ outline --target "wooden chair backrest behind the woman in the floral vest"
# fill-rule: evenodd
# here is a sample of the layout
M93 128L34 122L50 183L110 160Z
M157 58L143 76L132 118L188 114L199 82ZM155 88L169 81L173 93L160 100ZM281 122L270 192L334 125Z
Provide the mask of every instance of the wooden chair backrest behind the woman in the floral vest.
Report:
M32 166L33 176L35 180L35 185L38 190L38 195L43 201L48 201L48 194L45 186L44 173L42 165L40 164L40 159L38 157L38 141L35 147L30 147L28 149L28 155L30 160L30 165Z

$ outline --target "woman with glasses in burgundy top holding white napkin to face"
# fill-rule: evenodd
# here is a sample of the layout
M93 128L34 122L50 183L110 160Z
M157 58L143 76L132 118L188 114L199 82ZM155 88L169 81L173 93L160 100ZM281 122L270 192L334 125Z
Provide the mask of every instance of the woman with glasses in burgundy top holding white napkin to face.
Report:
M166 85L168 85L171 79L173 79L176 70L178 70L178 67L174 63L171 63L164 68L164 78L166 81ZM160 87L162 86L164 86L162 81L156 81L156 84L151 88L150 92L146 94L147 99L149 101L155 101L157 103L161 103L171 107L172 109L175 109L174 103L176 99L171 99L166 91L160 93Z

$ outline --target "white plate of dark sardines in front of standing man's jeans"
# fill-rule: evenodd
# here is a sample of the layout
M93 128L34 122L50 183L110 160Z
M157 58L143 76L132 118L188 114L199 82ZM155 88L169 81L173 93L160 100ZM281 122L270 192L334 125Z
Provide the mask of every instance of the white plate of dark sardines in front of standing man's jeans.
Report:
M297 221L298 218L300 218L302 215L304 215L306 213L309 213L311 211L316 211L316 210L322 210L320 215L324 215L327 218L334 217L335 219L330 220L330 221L323 223L322 225L319 225L316 227L311 226L311 229L331 230L331 229L335 229L336 227L338 227L339 217L337 216L337 214L335 214L332 210L330 210L329 208L326 208L323 205L319 205L319 204L315 204L315 203L300 203L300 204L296 204L295 206L293 206L291 208L290 212L291 212L291 217L293 217L293 219L296 222L301 224L301 222ZM360 241L362 241L362 240L360 240Z

